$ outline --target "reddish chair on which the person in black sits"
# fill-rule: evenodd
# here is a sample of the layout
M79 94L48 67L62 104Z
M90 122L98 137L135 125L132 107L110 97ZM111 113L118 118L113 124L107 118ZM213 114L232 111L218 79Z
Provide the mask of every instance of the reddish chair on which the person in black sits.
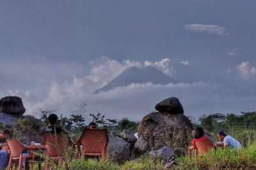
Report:
M62 164L63 153L65 149L65 143L62 134L45 134L44 144L46 148L45 152L45 165L44 169L48 170L51 160L57 160L58 166Z

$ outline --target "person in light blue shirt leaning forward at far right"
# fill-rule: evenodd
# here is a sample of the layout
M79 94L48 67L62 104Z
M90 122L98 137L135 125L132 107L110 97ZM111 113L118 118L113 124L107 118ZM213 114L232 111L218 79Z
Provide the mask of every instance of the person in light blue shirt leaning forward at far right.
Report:
M215 146L223 146L224 148L229 147L229 148L237 148L240 149L242 148L241 143L234 139L234 137L226 134L223 130L220 130L217 134L218 139L222 141L222 143L216 143Z

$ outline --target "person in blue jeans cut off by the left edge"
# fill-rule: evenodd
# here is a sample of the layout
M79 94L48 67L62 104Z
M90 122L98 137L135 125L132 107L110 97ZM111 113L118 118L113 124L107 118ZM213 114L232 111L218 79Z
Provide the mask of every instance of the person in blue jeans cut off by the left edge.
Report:
M8 164L8 146L6 146L6 139L10 138L10 130L4 129L3 133L0 134L0 169L5 169Z

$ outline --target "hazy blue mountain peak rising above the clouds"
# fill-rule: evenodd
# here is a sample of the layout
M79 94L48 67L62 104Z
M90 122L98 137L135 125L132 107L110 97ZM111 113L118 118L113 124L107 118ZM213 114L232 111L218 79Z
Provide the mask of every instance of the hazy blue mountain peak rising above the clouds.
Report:
M120 73L115 79L106 84L100 89L97 89L93 94L100 93L101 91L110 91L111 89L115 89L118 87L131 86L131 84L135 84L135 86L142 86L147 82L151 82L152 84L169 84L172 82L173 84L179 83L179 81L175 81L170 78L168 75L164 74L160 70L157 70L153 66L131 66L124 70L124 72Z

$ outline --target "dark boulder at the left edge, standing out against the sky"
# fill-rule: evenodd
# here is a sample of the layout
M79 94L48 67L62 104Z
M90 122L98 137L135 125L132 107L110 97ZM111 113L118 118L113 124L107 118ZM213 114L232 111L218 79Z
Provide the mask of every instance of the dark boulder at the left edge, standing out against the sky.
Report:
M21 116L25 111L26 109L19 97L4 97L0 99L0 112Z

